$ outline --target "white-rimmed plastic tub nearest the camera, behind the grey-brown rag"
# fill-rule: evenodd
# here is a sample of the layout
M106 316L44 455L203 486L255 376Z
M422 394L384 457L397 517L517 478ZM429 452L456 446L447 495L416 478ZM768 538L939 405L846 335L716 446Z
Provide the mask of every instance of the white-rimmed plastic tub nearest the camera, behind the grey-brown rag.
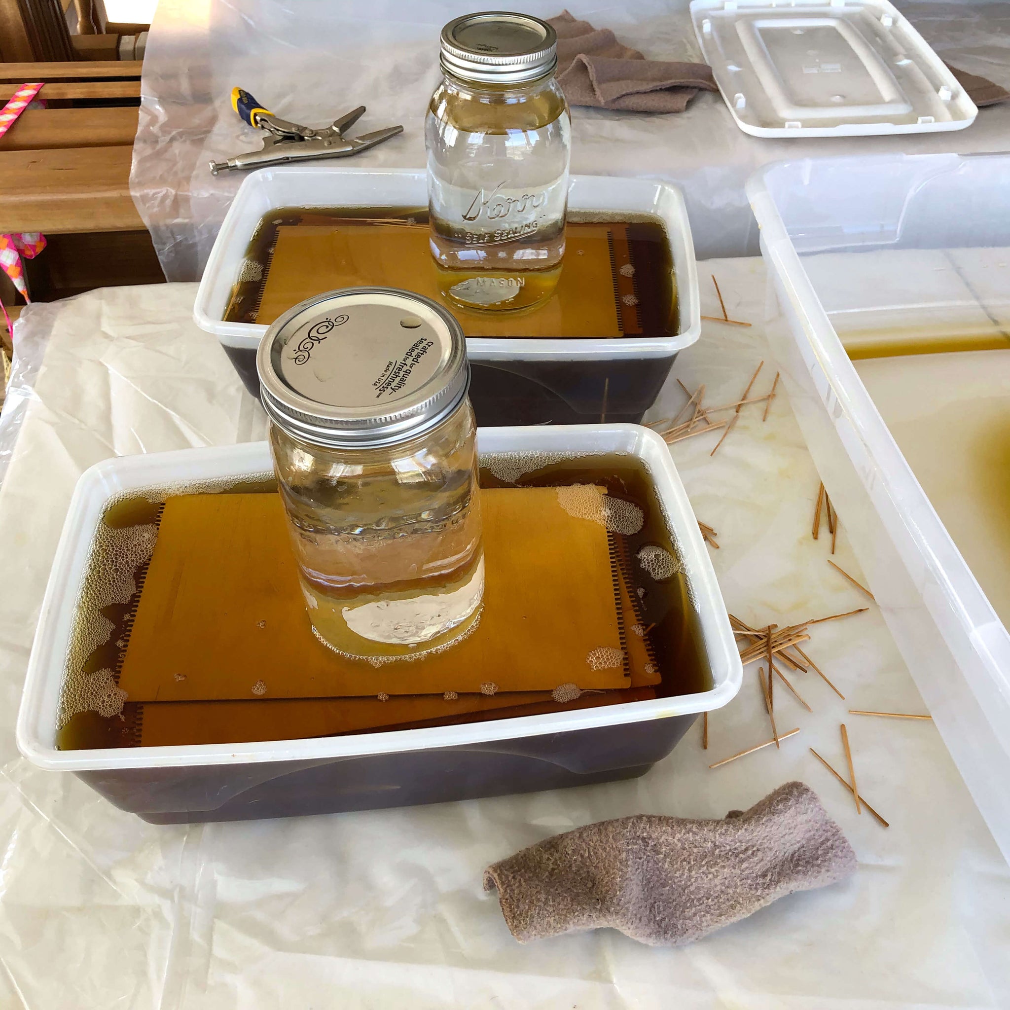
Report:
M694 591L709 691L456 726L349 736L99 750L55 747L74 608L96 524L124 490L271 473L266 442L122 457L81 478L57 550L18 716L21 752L74 772L153 823L332 813L473 799L630 779L666 756L699 712L725 705L741 669L718 584L669 450L646 428L616 424L491 428L494 451L632 453L647 464Z

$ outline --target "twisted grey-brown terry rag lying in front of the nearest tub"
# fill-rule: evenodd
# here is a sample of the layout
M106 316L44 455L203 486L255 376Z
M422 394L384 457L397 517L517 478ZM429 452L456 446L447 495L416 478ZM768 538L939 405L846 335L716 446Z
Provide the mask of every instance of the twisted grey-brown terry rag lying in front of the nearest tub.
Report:
M789 782L725 820L645 814L547 838L484 872L525 943L612 926L688 943L793 891L843 880L855 853L813 790Z

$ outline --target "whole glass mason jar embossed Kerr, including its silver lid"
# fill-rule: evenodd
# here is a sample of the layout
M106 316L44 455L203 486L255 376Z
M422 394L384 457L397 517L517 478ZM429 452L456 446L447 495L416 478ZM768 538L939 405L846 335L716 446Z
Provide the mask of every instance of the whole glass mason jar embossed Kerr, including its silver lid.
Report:
M556 47L526 14L442 29L424 126L431 252L442 294L466 308L530 308L561 276L572 128Z

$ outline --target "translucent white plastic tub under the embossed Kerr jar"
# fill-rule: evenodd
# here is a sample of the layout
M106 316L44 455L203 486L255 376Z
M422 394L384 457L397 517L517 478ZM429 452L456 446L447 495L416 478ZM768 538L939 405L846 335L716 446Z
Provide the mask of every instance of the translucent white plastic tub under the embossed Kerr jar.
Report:
M242 182L207 261L194 318L218 337L250 393L259 395L256 350L267 327L223 318L263 216L282 207L424 207L427 199L426 176L414 170L289 166L256 172ZM639 421L678 352L701 333L694 242L679 190L644 179L572 176L569 208L652 214L664 222L679 332L610 339L470 337L470 396L481 425Z

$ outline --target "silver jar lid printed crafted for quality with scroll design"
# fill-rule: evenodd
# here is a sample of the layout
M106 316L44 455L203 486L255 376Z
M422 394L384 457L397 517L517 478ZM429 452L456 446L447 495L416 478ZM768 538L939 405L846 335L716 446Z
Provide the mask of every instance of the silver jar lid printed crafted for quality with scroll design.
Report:
M257 371L264 409L288 434L338 448L434 427L470 385L467 341L437 302L396 288L309 298L271 324Z

